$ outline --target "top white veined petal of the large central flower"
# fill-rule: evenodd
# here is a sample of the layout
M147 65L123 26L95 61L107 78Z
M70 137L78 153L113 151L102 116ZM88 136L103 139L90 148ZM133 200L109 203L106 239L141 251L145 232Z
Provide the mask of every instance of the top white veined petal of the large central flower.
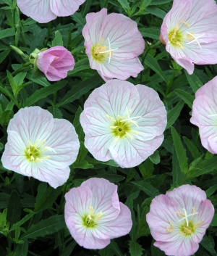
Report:
M85 107L97 107L107 115L116 118L126 115L139 100L139 94L132 83L122 80L108 80L100 88L96 88L85 102Z

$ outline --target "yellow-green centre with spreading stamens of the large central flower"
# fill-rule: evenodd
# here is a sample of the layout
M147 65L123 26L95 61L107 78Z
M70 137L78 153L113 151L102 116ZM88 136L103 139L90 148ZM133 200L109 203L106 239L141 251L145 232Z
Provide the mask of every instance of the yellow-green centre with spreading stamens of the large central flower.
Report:
M126 107L126 110L127 110L127 107ZM132 130L132 124L138 127L137 122L133 119L139 119L141 118L141 116L129 117L130 112L131 110L127 110L127 115L125 115L124 117L121 117L120 115L118 115L116 119L114 119L113 117L110 117L109 115L106 115L106 117L108 117L108 119L110 119L113 122L110 128L111 128L111 133L113 133L114 136L116 137L116 141L118 139L126 138L127 136L132 140L133 139L132 133L139 134L137 131Z

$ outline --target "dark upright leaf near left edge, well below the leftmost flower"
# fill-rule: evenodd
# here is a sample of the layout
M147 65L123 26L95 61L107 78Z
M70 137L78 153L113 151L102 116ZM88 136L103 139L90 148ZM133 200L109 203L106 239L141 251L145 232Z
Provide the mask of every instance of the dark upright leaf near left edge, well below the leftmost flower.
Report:
M7 221L10 226L20 220L21 205L20 197L16 190L12 191L7 205Z

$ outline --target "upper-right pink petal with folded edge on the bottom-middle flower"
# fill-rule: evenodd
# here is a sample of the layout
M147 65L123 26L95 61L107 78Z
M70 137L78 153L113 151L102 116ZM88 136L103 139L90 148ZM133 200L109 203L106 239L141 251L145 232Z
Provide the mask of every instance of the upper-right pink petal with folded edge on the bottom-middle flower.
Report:
M90 178L88 181L84 181L82 186L88 186L92 191L91 206L95 213L102 212L103 214L103 217L98 220L99 225L116 219L120 212L120 205L117 186L114 183L110 183L104 178Z

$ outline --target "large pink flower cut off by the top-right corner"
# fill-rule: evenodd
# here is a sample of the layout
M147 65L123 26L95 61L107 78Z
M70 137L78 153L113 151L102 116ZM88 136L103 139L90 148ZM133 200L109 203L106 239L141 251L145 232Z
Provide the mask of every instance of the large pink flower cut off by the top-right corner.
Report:
M190 75L195 64L217 63L217 5L214 0L174 0L160 39Z

